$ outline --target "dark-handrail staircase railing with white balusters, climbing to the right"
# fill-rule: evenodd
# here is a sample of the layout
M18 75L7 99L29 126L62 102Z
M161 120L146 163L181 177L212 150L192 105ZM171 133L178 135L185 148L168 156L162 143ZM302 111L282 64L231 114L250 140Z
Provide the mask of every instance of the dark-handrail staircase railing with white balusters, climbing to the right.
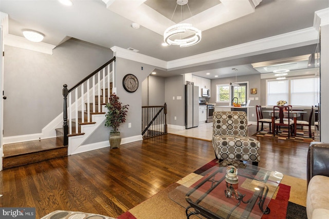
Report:
M113 84L115 60L116 57L113 57L70 89L67 88L66 84L63 85L64 146L68 145L68 135L79 134L79 124L89 124L91 122L90 114L101 112L101 105L107 103L108 96L112 94L112 87L115 87ZM67 99L69 104L67 104Z

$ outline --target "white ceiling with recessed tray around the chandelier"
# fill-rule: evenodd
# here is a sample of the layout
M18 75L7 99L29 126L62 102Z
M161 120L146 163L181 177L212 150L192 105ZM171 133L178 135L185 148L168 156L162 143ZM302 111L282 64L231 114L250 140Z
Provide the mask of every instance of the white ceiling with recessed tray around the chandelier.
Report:
M179 48L161 46L164 29L179 22L178 7L171 19L176 0L72 1L72 7L65 7L56 0L1 0L0 11L9 15L5 44L6 38L7 42L22 42L22 30L33 29L45 35L43 45L50 48L56 48L73 37L107 48L134 48L140 54L175 62L313 27L315 11L329 7L328 0L189 0L193 17L184 15L184 18L203 30L202 41ZM133 22L140 24L140 28L132 28ZM207 78L214 78L216 74L219 77L232 76L236 72L237 75L257 74L264 69L257 71L252 63L315 51L314 42L304 45L289 43L280 51L264 48L248 57L221 58L216 63L157 72L162 76L193 72ZM238 71L232 71L232 68ZM206 75L207 72L210 74Z

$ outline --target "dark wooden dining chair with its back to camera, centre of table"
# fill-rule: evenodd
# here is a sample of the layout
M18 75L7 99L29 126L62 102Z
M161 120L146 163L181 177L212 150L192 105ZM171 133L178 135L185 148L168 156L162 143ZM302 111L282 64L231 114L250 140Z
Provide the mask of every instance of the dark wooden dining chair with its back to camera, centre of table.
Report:
M275 133L278 134L279 128L283 126L288 128L288 138L290 138L290 135L294 133L294 120L291 119L291 115L293 115L292 107L273 106L273 114L275 113L277 113L278 119L274 122L273 136L275 136Z

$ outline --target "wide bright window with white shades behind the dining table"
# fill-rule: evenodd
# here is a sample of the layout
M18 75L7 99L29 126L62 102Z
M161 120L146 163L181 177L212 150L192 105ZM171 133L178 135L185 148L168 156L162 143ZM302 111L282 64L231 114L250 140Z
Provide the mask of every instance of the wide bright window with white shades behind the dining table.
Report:
M320 78L289 78L282 81L267 81L267 105L287 101L293 106L315 106L320 100Z

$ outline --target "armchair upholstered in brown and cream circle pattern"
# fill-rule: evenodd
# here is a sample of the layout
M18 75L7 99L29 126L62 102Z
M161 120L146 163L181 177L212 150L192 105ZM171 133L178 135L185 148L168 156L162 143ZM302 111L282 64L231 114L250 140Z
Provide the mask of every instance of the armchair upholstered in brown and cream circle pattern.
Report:
M220 162L251 161L258 166L260 161L260 142L248 136L247 114L242 111L213 113L212 146Z

